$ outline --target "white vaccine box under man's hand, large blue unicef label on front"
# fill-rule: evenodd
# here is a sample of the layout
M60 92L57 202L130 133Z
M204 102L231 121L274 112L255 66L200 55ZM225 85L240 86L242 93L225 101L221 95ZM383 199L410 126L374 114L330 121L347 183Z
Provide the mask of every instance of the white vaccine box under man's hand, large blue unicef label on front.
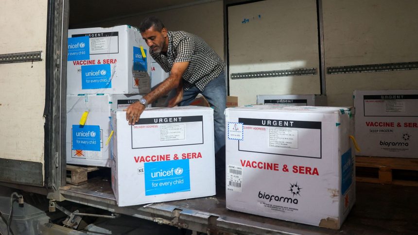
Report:
M213 109L146 109L129 126L113 111L112 188L119 206L215 194Z

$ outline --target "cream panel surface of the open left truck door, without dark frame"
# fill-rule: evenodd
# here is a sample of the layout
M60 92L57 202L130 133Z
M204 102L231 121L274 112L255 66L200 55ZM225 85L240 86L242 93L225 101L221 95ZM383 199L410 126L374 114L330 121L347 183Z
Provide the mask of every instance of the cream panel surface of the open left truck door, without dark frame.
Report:
M5 0L0 54L46 50L46 0ZM44 163L45 56L0 64L0 158Z

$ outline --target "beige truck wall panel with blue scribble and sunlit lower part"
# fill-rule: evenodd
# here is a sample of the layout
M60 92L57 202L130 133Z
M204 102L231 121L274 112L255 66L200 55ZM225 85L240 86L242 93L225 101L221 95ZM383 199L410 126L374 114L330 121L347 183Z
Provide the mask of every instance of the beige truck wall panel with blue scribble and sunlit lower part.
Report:
M264 0L227 8L229 94L321 94L316 0Z

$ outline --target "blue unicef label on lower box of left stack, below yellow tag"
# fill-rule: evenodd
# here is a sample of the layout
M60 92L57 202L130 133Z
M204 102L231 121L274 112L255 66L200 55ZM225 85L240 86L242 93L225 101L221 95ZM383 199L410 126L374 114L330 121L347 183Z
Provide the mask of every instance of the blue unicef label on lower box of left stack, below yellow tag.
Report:
M100 126L72 125L72 150L100 151Z

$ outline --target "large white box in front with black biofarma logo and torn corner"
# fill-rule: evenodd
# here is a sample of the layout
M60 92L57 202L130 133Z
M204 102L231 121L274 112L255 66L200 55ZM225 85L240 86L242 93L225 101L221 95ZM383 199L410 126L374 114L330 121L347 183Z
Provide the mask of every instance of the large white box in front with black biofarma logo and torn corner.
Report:
M339 229L355 201L353 109L226 109L226 208Z

